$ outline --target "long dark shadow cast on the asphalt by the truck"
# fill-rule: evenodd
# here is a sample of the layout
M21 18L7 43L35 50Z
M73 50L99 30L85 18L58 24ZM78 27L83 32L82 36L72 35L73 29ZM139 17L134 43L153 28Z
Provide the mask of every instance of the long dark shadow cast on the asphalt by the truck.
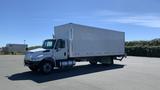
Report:
M39 73L33 73L31 71L22 72L22 73L16 73L11 76L6 76L9 80L17 81L17 80L32 80L37 83L44 83L48 81L53 80L60 80L70 77L75 77L79 75L85 75L85 74L91 74L96 72L102 72L102 71L108 71L108 70L114 70L114 69L120 69L123 68L124 65L121 64L114 64L110 66L103 66L103 65L81 65L76 66L74 68L68 69L57 69L54 70L49 75L43 75Z

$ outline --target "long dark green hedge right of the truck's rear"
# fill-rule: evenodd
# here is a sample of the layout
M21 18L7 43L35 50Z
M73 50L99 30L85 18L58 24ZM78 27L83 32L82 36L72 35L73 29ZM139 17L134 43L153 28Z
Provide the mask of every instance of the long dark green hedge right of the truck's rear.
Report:
M160 57L160 39L150 41L127 41L125 52L131 56Z

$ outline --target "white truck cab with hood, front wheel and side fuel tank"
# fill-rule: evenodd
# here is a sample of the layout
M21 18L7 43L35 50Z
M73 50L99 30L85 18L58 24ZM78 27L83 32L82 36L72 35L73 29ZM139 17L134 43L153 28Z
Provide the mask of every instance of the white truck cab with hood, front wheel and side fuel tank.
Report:
M54 67L73 66L75 61L68 60L67 40L47 39L42 48L30 50L25 54L24 64L32 71L49 73Z

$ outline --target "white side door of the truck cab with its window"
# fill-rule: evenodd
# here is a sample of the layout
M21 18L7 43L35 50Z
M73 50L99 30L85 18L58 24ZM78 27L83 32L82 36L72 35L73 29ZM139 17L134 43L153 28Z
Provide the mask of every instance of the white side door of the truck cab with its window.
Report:
M56 41L55 51L54 51L56 60L67 59L68 58L67 50L68 50L67 40L58 39Z

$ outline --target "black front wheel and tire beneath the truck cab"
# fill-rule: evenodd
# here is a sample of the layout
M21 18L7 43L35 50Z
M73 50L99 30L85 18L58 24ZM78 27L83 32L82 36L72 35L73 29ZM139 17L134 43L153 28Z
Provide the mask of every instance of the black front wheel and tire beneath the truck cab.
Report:
M40 71L43 73L43 74L49 74L51 73L53 70L53 64L52 62L42 62L40 64Z

